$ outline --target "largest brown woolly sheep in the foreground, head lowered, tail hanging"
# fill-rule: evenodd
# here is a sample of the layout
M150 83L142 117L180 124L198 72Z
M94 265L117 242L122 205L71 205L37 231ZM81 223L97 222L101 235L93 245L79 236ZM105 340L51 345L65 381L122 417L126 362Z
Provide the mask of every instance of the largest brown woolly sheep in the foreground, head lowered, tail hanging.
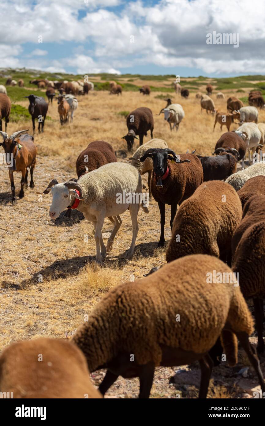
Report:
M256 350L248 340L254 331L248 306L239 287L226 278L218 285L207 284L211 271L233 276L215 257L185 256L151 276L112 288L98 302L72 341L85 354L90 371L107 368L101 394L118 376L139 377L139 398L148 398L156 366L199 360L199 398L206 398L213 366L208 351L220 335L229 366L237 363L238 339L265 390Z

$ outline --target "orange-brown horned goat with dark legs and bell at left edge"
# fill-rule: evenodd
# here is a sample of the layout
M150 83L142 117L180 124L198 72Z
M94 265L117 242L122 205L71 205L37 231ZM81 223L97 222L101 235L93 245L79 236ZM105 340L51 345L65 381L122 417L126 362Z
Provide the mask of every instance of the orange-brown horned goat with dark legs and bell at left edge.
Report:
M24 197L24 184L28 187L28 168L30 167L30 187L34 188L33 182L33 171L36 164L37 156L37 147L34 144L33 136L28 133L20 136L22 133L27 132L28 130L20 130L19 132L14 132L9 137L6 132L1 132L3 136L3 142L0 145L3 145L6 155L11 159L9 166L9 179L11 183L12 191L12 203L15 201L15 185L14 185L14 176L13 172L21 172L21 188L19 193L19 198ZM19 139L15 141L16 138Z

